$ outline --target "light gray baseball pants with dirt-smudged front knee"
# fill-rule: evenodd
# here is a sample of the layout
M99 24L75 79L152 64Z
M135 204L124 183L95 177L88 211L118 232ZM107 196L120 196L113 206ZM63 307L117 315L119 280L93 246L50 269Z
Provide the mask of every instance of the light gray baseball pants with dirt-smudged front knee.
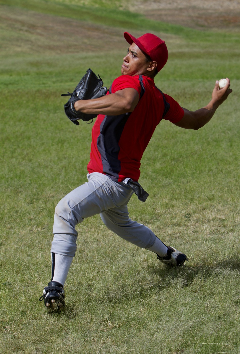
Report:
M106 227L124 240L141 248L151 247L155 234L128 216L127 204L133 190L99 172L88 173L87 178L88 182L72 190L56 206L51 252L74 257L78 236L75 227L95 214L100 214Z

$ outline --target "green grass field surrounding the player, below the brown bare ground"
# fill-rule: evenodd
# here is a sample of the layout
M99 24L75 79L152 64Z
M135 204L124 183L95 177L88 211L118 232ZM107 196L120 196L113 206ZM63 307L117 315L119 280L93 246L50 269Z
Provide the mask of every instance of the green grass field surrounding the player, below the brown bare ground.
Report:
M0 353L239 354L239 33L106 11L0 0ZM150 196L129 202L132 219L189 261L168 269L99 216L85 219L66 309L48 314L38 298L51 276L54 208L86 181L91 144L92 126L67 119L61 93L89 67L109 87L125 30L166 40L156 85L183 107L206 105L215 80L231 79L233 93L199 131L160 123L141 161Z

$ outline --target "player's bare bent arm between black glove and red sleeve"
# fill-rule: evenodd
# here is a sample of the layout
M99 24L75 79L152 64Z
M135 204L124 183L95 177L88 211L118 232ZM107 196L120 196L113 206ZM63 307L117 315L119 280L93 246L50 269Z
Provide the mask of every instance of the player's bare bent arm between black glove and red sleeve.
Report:
M119 115L132 112L133 104L117 93L88 100L79 100L74 108L86 114Z

